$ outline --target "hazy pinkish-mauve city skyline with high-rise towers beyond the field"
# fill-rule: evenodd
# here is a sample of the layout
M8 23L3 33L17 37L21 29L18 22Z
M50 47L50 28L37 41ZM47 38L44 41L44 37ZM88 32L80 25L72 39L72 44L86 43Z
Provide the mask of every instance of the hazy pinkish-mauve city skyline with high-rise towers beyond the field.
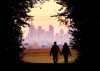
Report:
M71 35L67 32L64 33L63 29L60 29L59 33L54 35L54 27L52 25L49 25L48 31L46 31L42 28L42 26L38 26L38 29L35 28L35 25L32 23L33 22L31 22L29 27L28 36L24 38L24 42L28 43L29 45L34 43L38 43L39 45L46 45L53 43L54 41L59 44L63 44L64 42L69 43Z

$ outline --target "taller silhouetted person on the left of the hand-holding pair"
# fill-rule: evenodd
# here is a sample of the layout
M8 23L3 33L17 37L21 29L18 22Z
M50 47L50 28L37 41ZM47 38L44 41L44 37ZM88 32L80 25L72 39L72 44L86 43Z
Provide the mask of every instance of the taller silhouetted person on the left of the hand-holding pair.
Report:
M51 51L50 51L50 56L52 54L54 63L57 63L57 61L58 61L58 51L61 54L60 49L57 46L57 43L54 42L54 45L52 45L52 48L51 48Z

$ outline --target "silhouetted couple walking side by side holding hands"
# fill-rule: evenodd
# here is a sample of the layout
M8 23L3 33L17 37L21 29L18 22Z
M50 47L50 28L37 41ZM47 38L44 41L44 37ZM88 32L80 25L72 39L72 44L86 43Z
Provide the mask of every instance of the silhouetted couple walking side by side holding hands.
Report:
M62 52L60 51L58 45L56 42L54 42L54 45L52 45L52 48L51 48L51 51L50 51L50 56L52 55L53 56L53 61L54 63L57 63L58 61L58 52L63 55L64 57L64 62L65 63L68 63L68 56L70 55L71 56L71 53L70 53L70 49L69 49L69 46L67 45L67 43L65 42L64 45L63 45L63 48L62 48Z

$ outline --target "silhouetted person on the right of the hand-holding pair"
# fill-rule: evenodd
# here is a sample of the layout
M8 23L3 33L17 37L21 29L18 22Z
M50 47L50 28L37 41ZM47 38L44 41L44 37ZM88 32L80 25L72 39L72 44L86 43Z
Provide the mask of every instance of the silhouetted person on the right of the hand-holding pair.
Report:
M64 56L64 62L68 63L68 56L69 55L71 56L71 53L70 53L70 49L69 49L69 46L67 45L67 43L64 43L64 45L63 45L62 54Z

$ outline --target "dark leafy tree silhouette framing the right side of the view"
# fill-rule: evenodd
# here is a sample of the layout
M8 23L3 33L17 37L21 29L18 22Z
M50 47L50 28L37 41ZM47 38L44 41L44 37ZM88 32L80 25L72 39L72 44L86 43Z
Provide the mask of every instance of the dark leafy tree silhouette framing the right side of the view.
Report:
M74 36L71 45L79 51L77 63L95 63L99 39L100 11L97 0L61 0L60 4L68 6L75 24L71 27L78 31L70 31ZM65 13L63 13L65 15ZM75 43L75 44L74 44ZM96 58L95 58L96 57Z

